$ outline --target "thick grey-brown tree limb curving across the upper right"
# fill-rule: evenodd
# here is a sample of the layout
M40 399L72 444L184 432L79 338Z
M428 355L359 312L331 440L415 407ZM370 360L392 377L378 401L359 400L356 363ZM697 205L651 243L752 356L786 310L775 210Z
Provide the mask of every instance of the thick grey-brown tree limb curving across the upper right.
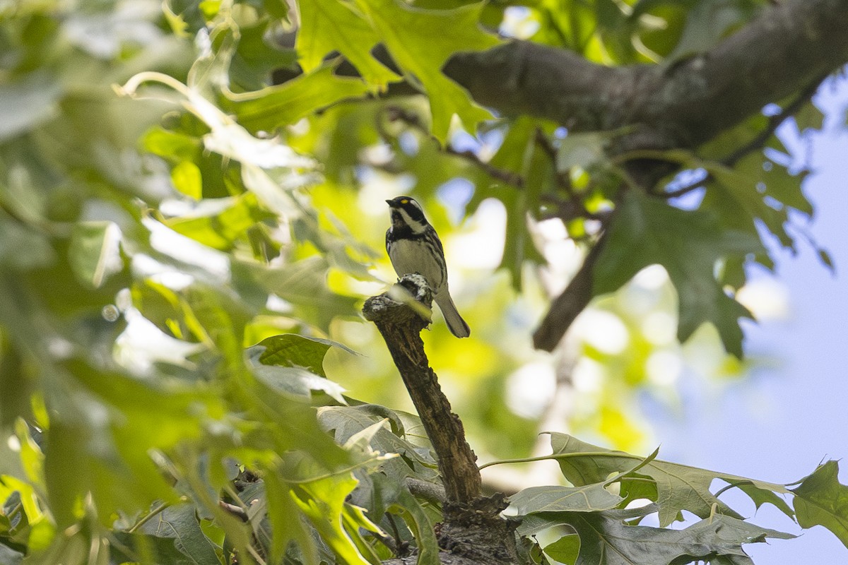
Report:
M457 53L444 72L477 102L572 130L638 129L628 147L697 147L848 62L848 0L789 0L710 51L673 64L605 67L510 42Z

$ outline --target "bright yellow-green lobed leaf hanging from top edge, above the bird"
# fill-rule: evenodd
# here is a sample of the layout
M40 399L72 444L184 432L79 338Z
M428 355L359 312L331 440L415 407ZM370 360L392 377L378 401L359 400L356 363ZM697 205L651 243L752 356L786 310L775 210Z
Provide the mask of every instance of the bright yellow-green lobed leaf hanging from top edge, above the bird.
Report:
M442 73L457 52L483 51L499 44L478 24L483 3L451 10L414 8L399 0L356 0L407 80L420 81L432 112L432 134L444 144L454 114L470 130L491 119L488 110L471 101L468 92ZM433 41L438 37L438 42Z

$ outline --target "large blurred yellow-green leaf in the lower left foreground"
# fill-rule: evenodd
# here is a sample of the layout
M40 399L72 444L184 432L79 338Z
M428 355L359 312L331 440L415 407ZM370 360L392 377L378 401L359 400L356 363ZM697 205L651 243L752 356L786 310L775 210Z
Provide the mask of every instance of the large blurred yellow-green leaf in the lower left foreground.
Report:
M148 455L198 438L201 420L224 413L203 385L161 388L79 360L64 364L61 386L46 400L51 413L45 459L51 510L60 528L78 518L86 493L98 508L131 512L174 493ZM68 473L67 469L75 469ZM109 522L109 512L100 514Z

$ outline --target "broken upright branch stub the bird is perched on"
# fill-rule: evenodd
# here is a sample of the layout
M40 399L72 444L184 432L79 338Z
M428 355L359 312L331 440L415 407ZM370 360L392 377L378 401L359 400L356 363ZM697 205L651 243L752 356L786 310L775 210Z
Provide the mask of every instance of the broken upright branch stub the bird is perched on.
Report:
M399 286L428 309L432 292L418 274L406 274ZM438 379L427 361L421 330L430 321L388 293L371 296L362 307L374 322L392 354L421 424L436 451L444 483L444 522L438 524L439 546L472 562L516 563L515 523L500 517L507 506L501 494L482 496L477 456L468 445L460 418L451 412ZM443 562L453 560L443 559Z

